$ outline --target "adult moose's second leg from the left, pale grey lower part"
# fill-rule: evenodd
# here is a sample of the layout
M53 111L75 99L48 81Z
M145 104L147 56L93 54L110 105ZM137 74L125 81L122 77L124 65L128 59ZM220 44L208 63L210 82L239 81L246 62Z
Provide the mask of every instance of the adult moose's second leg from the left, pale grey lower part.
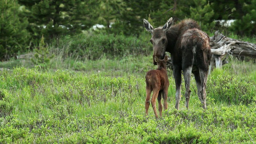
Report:
M185 70L183 70L183 75L184 75L184 81L185 81L185 87L186 87L186 93L185 93L185 98L186 98L186 108L188 108L189 105L189 100L190 100L190 80L191 80L191 72L192 72L192 66L189 66Z

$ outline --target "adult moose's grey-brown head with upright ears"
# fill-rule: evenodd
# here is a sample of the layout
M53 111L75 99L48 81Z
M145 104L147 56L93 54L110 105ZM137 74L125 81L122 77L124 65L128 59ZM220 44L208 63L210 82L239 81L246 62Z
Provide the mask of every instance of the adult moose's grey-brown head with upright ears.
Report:
M172 26L172 18L170 18L163 27L153 28L148 20L143 20L145 29L151 33L152 37L150 42L153 45L153 64L156 65L155 56L164 59L166 46L168 40L166 38L166 31L169 30Z

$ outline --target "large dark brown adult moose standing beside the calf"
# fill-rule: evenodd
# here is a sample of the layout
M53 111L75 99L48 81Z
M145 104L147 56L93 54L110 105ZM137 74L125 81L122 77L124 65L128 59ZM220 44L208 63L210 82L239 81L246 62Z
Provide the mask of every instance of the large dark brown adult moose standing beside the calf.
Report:
M179 109L181 70L183 70L185 81L186 108L190 100L190 79L191 73L194 74L197 86L198 98L202 107L206 109L206 81L210 64L210 45L209 36L200 30L197 22L192 19L182 20L172 26L170 18L163 27L153 28L148 20L144 19L144 27L151 33L150 42L153 44L153 64L156 65L154 57L162 59L165 52L170 52L173 75L176 85L176 105Z

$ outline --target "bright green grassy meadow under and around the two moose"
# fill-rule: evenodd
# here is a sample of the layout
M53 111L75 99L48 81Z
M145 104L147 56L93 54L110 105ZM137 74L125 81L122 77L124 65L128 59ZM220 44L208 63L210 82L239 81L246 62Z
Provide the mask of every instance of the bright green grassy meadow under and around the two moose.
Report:
M210 74L207 110L192 77L190 109L168 70L168 110L145 114L144 76L152 56L121 60L54 58L48 70L29 60L1 62L0 143L255 143L256 65L235 58ZM182 84L182 95L184 94Z

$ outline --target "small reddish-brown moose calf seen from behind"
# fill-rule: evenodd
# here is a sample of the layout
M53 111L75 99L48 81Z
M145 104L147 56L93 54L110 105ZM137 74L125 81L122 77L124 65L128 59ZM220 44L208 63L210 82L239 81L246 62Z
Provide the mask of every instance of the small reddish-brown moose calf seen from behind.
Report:
M161 103L162 98L164 99L164 110L167 109L167 94L168 94L169 80L168 80L167 71L166 71L166 61L168 60L168 57L165 56L164 60L158 60L157 57L155 57L155 59L158 64L158 69L148 71L145 76L146 78L145 109L146 109L146 115L148 115L148 108L151 102L152 108L154 110L154 114L156 118L158 118L158 115L156 112L156 98L158 100L158 111L161 117L162 117L162 103ZM150 100L150 95L152 91L153 91L153 94Z

